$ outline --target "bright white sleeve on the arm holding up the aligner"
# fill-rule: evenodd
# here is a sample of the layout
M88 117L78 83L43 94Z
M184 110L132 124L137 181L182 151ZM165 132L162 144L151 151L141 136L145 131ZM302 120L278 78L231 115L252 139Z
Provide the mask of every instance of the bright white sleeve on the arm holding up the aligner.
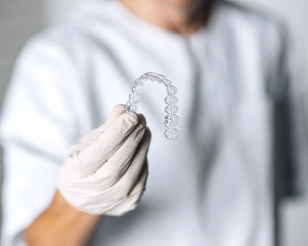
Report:
M54 196L62 156L78 135L76 70L50 38L34 38L16 62L0 120L3 246L25 245L24 229Z

